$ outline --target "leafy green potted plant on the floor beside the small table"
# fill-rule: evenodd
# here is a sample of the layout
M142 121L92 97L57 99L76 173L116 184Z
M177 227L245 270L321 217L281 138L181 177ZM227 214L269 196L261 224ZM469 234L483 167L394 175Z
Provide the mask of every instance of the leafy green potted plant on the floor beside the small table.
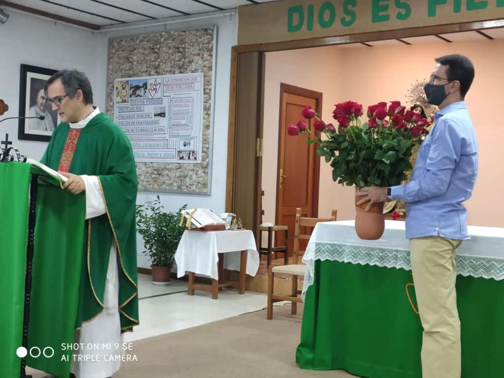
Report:
M152 263L152 283L167 285L170 281L171 267L175 262L175 252L178 242L184 232L180 225L180 212L164 212L159 196L145 205L137 205L137 229L144 239L146 250L143 254L149 256Z

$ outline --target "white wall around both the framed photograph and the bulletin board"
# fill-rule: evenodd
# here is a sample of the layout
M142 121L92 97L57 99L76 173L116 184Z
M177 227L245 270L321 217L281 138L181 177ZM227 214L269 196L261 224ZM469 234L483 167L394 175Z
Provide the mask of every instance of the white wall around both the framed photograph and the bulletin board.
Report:
M217 214L225 210L227 129L229 113L229 76L231 47L236 44L236 16L219 16L207 19L140 27L108 32L94 32L67 26L53 21L8 10L9 21L0 26L0 98L9 104L6 116L18 115L20 65L84 71L93 87L94 103L105 111L105 88L107 73L108 39L138 34L150 34L165 30L190 30L211 28L217 25L217 56L214 104L214 139L212 155L211 195L181 195L139 192L137 203L152 200L159 194L165 210L178 210L188 204L191 208L210 208ZM0 124L0 136L9 133L24 154L39 159L46 143L18 141L17 121ZM140 267L149 267L148 259L141 254L143 241L138 237L138 262Z

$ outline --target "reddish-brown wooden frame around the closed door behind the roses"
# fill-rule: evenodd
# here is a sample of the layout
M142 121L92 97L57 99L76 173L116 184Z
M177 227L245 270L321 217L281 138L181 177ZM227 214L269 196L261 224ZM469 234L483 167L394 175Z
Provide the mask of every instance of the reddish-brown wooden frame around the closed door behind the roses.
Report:
M280 111L279 111L279 119L278 119L278 161L277 161L277 201L275 208L275 224L280 224L278 219L278 199L280 195L280 175L278 174L280 169L280 161L281 161L281 147L282 147L282 108L283 108L283 96L284 93L293 94L296 96L310 97L317 100L317 113L321 114L322 112L322 97L323 94L321 92L312 91L311 89L305 89L301 87L296 87L294 85L280 83ZM320 137L320 132L316 133L318 137ZM311 214L308 214L308 217L318 218L319 216L319 188L320 188L320 157L317 154L318 144L314 145L313 148L313 158L314 158L314 166L313 166L313 193L312 193L312 210Z

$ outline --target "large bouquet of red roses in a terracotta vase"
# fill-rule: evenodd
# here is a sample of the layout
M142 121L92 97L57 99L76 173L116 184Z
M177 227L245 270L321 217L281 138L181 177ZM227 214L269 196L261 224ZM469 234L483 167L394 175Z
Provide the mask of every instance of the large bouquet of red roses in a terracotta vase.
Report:
M411 151L426 134L428 120L406 111L400 101L392 101L389 106L386 102L369 106L365 123L361 123L362 114L362 105L356 102L336 104L336 129L315 110L305 107L303 117L313 118L313 128L326 138L317 137L304 120L289 125L287 132L291 136L307 134L307 143L319 143L317 153L331 164L333 180L340 184L355 185L356 190L372 185L399 185L407 178L405 171L412 168ZM385 229L383 204L373 204L369 212L365 211L366 206L356 206L355 229L362 239L379 239Z

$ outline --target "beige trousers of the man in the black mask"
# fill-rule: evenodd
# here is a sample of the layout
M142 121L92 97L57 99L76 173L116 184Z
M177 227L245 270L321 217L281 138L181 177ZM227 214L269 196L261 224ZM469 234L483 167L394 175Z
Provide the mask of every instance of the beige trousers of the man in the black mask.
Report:
M410 239L411 270L423 326L422 377L460 378L460 320L455 249L462 240Z

